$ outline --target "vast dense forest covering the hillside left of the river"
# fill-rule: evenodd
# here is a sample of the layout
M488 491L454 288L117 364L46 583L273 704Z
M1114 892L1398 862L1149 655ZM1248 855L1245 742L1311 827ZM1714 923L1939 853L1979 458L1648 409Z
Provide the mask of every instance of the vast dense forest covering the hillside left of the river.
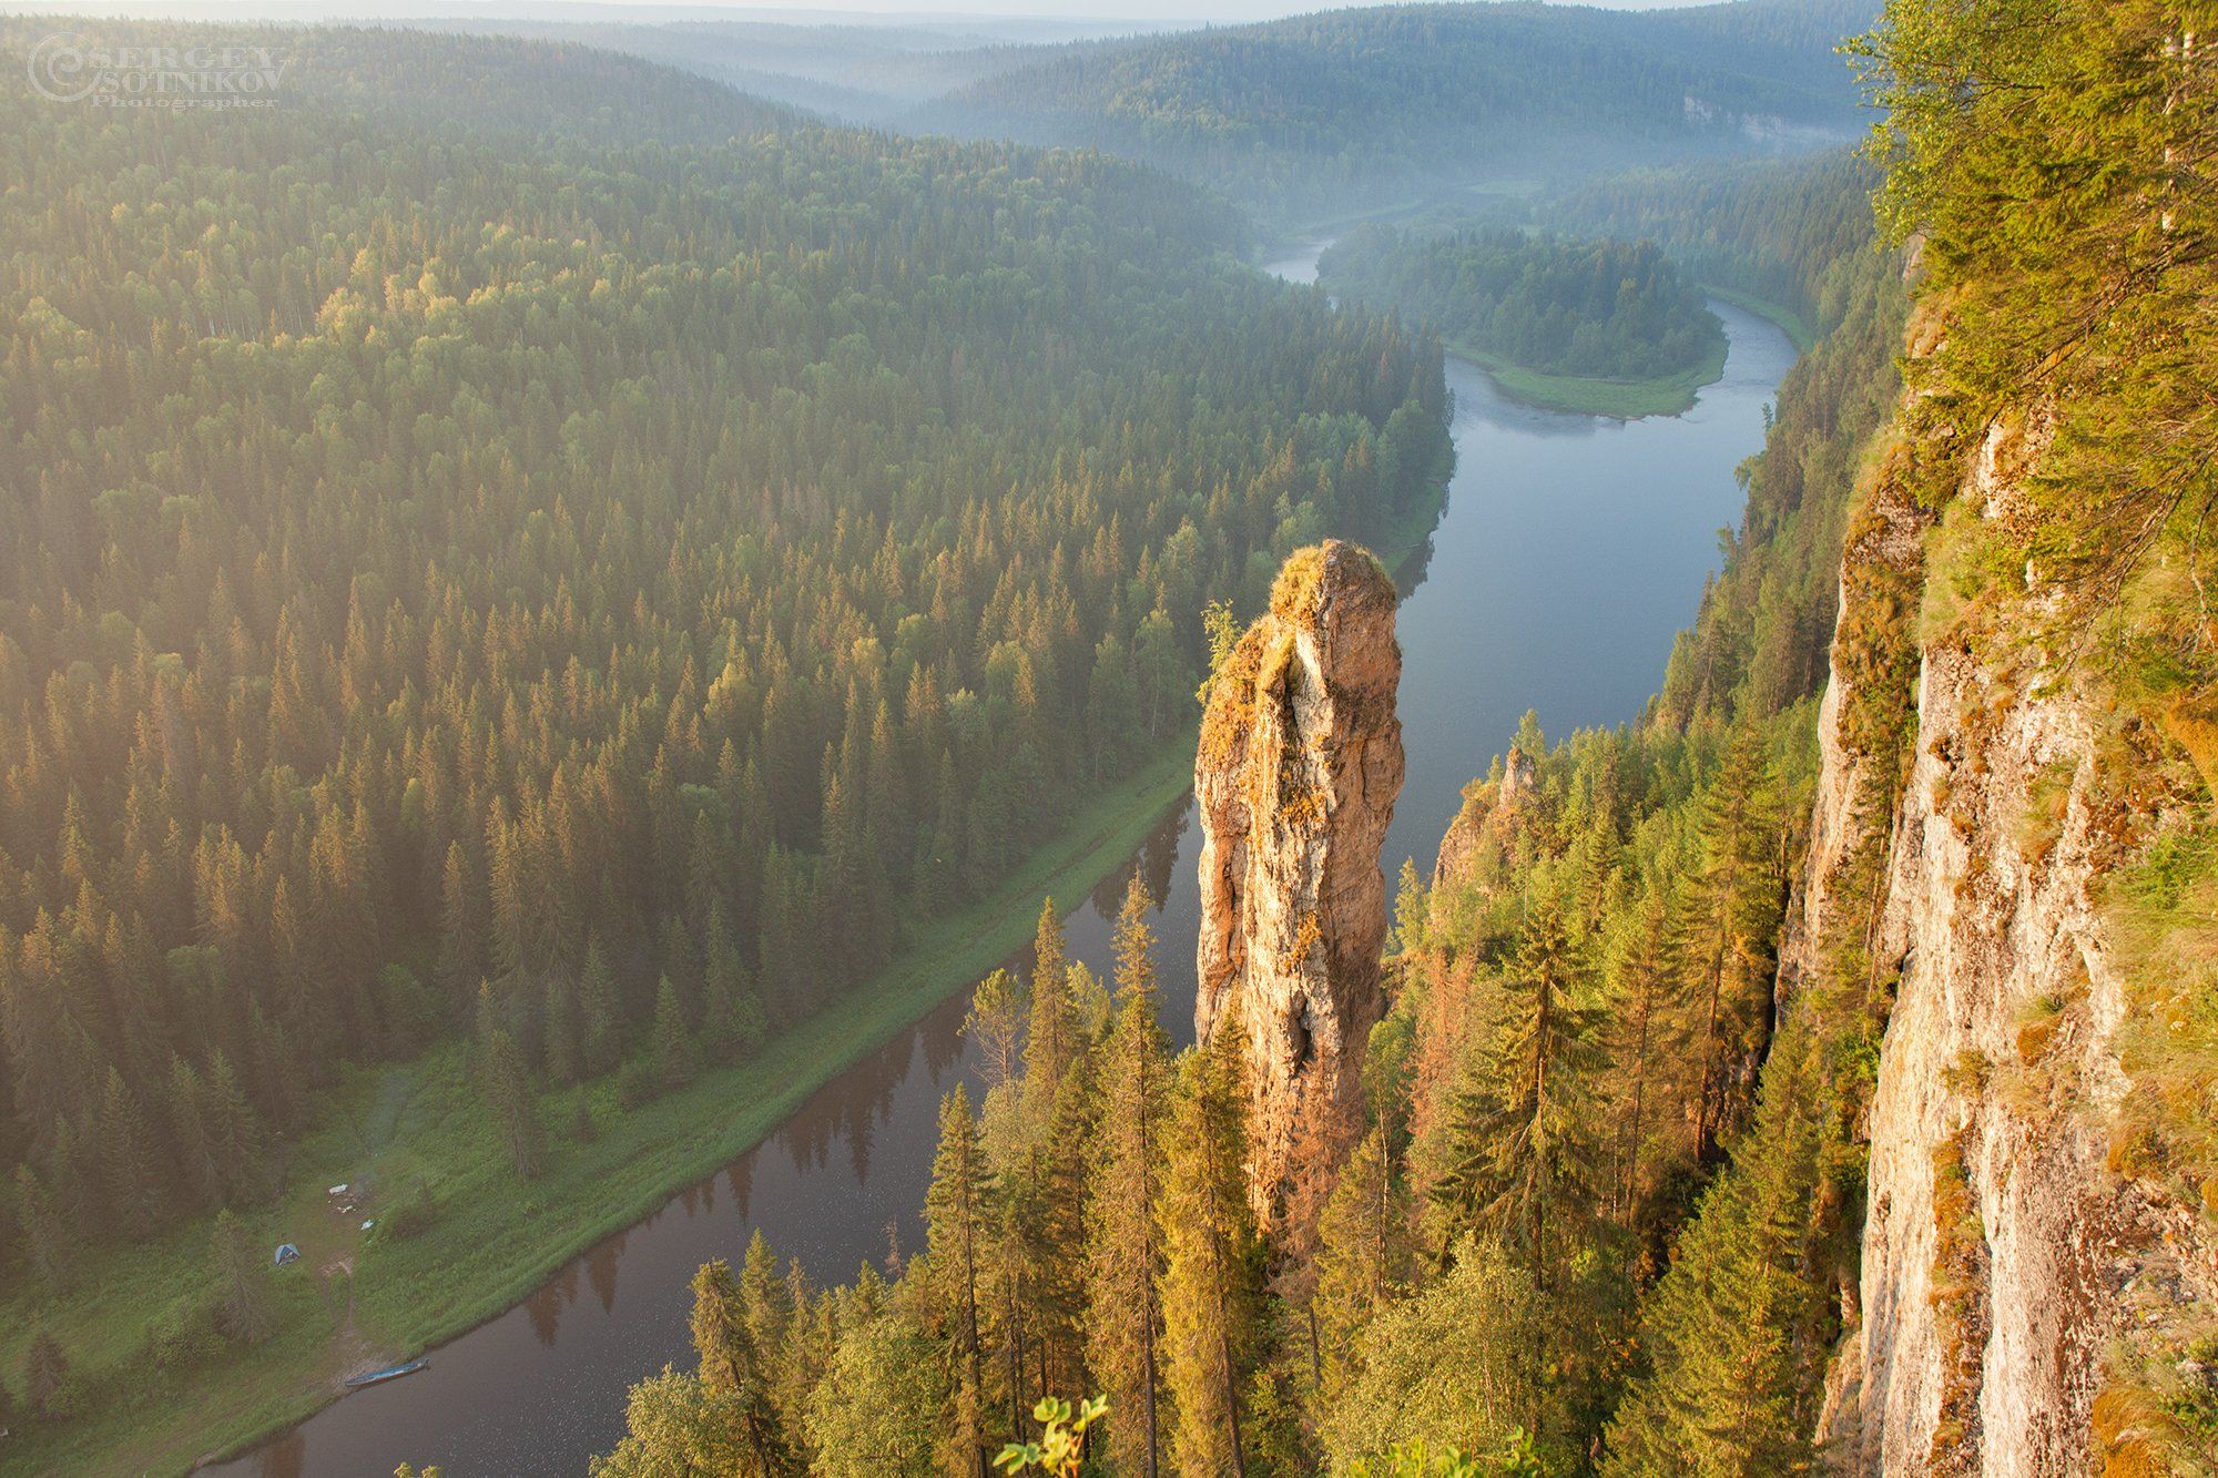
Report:
M271 115L0 100L9 1280L260 1205L344 1063L472 1034L530 1174L535 1085L761 1050L1444 477L1437 344L1184 186L286 42Z

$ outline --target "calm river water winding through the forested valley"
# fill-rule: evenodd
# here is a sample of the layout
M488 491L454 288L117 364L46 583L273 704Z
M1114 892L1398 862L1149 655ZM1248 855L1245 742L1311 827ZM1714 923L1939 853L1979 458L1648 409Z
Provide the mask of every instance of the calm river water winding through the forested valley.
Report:
M1269 271L1309 282L1317 246ZM1717 530L1739 519L1732 468L1757 451L1763 408L1792 364L1785 335L1717 304L1726 377L1681 417L1606 422L1506 402L1448 364L1457 470L1431 553L1404 577L1402 737L1408 781L1386 837L1431 870L1459 792L1508 746L1526 708L1550 735L1639 715L1686 626ZM1189 806L1071 917L1071 950L1109 974L1109 921L1131 868L1162 899L1164 1023L1193 1032L1198 839ZM767 1143L714 1181L577 1258L530 1300L433 1352L419 1376L357 1391L217 1471L384 1478L399 1460L450 1478L581 1474L623 1436L632 1380L688 1360L688 1283L734 1265L756 1227L818 1280L845 1280L887 1245L918 1247L936 1110L978 1092L960 1021L965 981L932 1016L825 1085Z

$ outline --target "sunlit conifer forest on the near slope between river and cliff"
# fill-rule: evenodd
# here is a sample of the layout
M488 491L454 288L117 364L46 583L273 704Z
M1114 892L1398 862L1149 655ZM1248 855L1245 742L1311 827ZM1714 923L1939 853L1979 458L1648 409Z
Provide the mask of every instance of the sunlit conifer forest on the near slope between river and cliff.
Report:
M1049 912L1029 979L974 1001L989 1087L943 1107L927 1247L836 1289L763 1243L705 1267L699 1367L634 1389L597 1471L980 1471L1060 1427L1042 1396L1093 1394L1118 1474L1808 1465L1879 1019L1777 1025L1772 981L1832 573L1896 395L1899 271L1861 220L1799 264L1845 306L1648 715L1528 721L1404 874L1369 1118L1304 1150L1282 1225L1240 1174L1240 1045L1173 1056L1156 1025L1142 885L1107 983Z

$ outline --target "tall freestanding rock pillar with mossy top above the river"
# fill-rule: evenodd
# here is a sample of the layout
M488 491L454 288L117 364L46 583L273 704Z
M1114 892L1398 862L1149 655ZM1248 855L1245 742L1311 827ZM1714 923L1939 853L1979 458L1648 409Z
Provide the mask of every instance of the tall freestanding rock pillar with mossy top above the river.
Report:
M1402 790L1395 588L1331 539L1286 561L1209 695L1196 1032L1247 1032L1249 1185L1269 1218L1304 1127L1349 1114L1382 1012L1380 846Z

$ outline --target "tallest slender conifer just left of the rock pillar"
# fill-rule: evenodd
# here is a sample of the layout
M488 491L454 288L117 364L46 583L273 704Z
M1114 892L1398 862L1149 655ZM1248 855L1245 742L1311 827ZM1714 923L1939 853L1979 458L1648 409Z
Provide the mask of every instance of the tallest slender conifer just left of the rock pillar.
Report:
M1093 1378L1109 1396L1111 1460L1120 1471L1156 1478L1162 1389L1156 1196L1162 1185L1169 1061L1156 1021L1149 908L1136 874L1116 930L1116 1025L1100 1050L1098 1174L1087 1207L1087 1352Z

